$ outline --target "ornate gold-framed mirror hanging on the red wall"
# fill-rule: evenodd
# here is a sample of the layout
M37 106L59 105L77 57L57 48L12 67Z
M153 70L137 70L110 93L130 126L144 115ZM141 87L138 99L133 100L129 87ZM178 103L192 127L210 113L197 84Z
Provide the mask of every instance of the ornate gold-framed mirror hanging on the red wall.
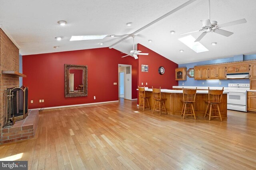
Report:
M65 98L88 95L88 69L84 65L64 64Z

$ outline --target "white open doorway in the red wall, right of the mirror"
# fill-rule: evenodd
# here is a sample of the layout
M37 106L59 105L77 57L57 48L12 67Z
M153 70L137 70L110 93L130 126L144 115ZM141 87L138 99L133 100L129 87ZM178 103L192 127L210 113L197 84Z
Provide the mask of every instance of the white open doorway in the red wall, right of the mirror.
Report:
M132 66L118 64L118 97L132 100Z

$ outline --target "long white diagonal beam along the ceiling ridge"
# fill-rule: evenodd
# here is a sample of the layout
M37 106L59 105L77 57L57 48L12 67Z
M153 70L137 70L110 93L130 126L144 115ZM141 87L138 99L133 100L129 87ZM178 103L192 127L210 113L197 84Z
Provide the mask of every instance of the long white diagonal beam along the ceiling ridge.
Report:
M147 28L147 27L153 25L154 23L156 23L156 22L158 22L158 21L160 21L160 20L162 20L162 19L164 19L164 18L170 16L170 15L173 14L174 12L176 12L176 11L178 11L178 10L184 8L185 6L188 6L189 4L191 4L191 3L195 2L195 1L196 1L196 0L189 0L189 1L185 2L184 4L182 4L182 5L178 6L177 8L175 8L174 10L171 10L170 12L164 14L164 15L161 16L160 18L158 18L158 19L156 19L156 20L154 20L154 21L148 23L148 24L145 25L144 27L142 27L142 28L138 29L137 31L131 33L130 35L124 37L123 39L120 39L120 40L117 41L116 43L110 45L108 48L112 49L112 48L113 48L115 45L117 45L118 43L120 43L120 42L122 42L122 41L128 39L128 38L131 37L132 35L134 35L134 34L140 32L140 31L142 31L143 29L145 29L145 28Z

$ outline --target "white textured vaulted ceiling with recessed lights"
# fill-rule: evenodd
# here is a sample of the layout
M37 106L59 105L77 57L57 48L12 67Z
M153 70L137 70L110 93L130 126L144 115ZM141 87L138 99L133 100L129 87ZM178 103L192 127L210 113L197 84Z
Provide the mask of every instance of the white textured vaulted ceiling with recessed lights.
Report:
M20 46L22 55L52 53L109 47L151 21L159 18L187 0L0 0L0 24ZM230 37L208 33L200 42L209 49L195 53L178 38L201 28L208 19L208 0L197 0L178 12L141 31L135 37L156 53L178 63L256 53L256 0L211 0L211 20L218 23L245 18L247 23L223 29L234 32ZM66 20L62 27L57 21ZM127 22L132 22L128 27ZM175 30L174 35L170 34ZM72 35L115 34L102 40L69 41ZM197 38L200 33L192 33ZM54 37L64 37L56 41ZM152 39L152 43L148 42ZM104 45L99 45L104 42ZM217 42L212 46L212 42ZM60 46L54 49L54 46ZM128 52L132 38L115 49ZM184 52L180 53L179 50ZM122 54L120 54L120 57Z

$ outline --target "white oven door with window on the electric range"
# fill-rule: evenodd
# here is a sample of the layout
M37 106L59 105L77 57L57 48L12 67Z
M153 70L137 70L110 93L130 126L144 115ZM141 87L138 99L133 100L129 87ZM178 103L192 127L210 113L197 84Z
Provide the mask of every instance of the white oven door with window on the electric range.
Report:
M229 92L228 104L246 106L246 93Z

